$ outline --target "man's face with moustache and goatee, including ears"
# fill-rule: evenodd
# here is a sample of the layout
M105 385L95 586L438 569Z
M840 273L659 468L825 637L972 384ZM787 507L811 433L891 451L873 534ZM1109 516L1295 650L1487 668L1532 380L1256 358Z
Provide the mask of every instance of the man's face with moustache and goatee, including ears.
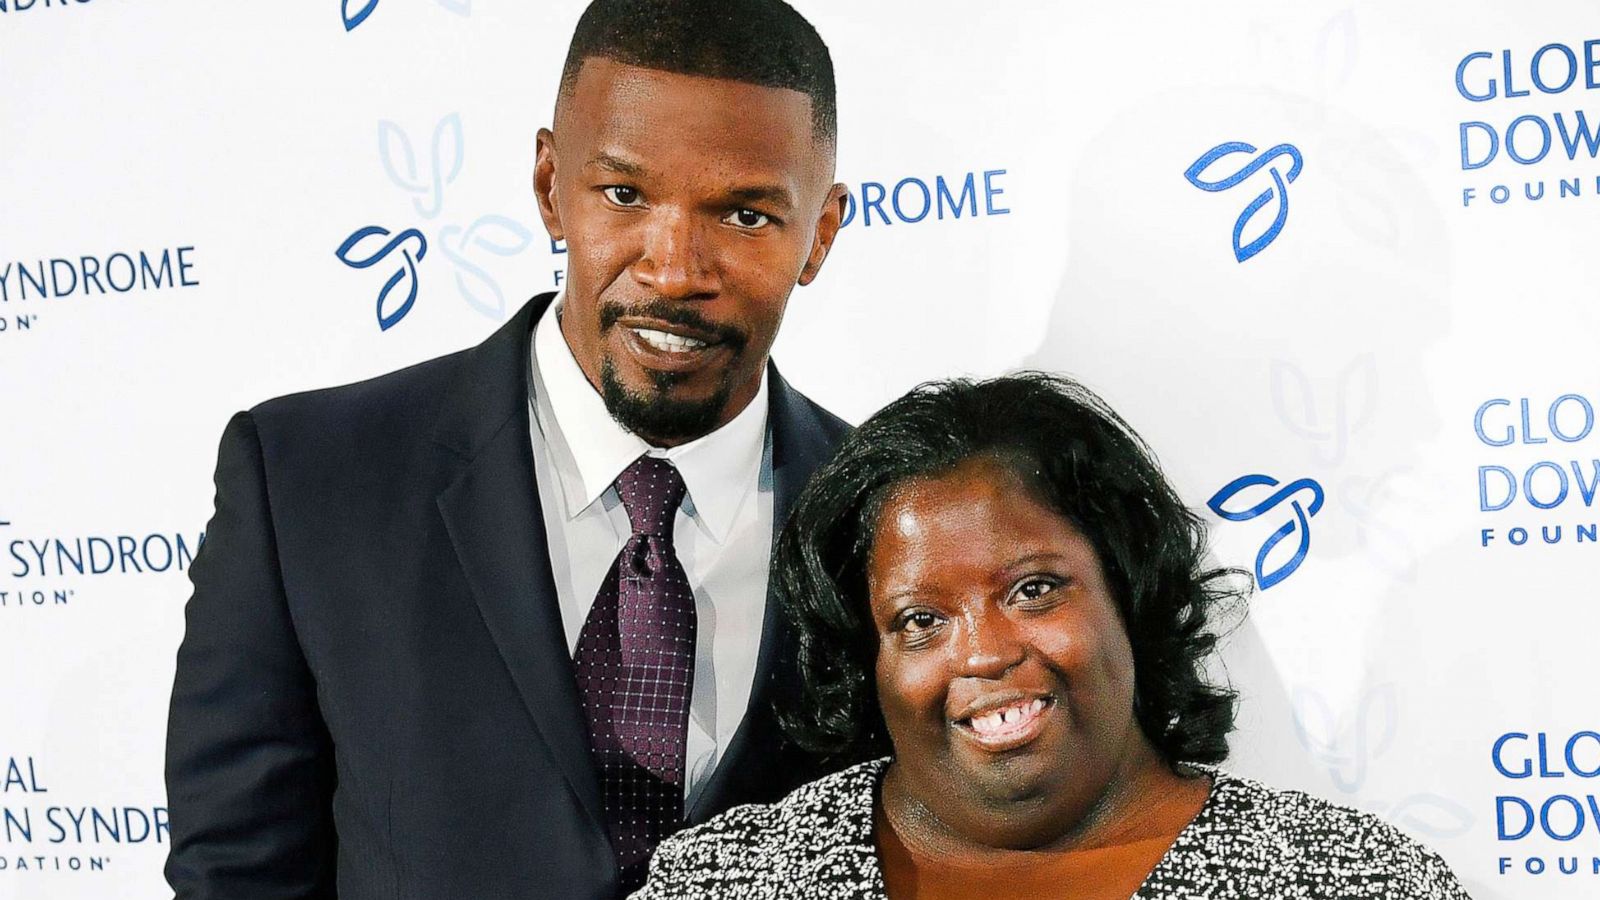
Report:
M800 91L584 62L534 191L566 242L562 333L619 423L683 444L755 397L838 231L832 165Z

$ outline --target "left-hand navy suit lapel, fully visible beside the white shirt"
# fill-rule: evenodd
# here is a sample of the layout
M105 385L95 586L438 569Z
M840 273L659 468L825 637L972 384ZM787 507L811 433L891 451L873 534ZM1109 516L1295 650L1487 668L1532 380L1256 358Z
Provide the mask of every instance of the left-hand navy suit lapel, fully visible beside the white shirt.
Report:
M438 511L528 714L603 834L600 785L589 756L533 477L528 351L533 322L552 296L534 298L469 351L435 432L461 460L456 479L438 495Z

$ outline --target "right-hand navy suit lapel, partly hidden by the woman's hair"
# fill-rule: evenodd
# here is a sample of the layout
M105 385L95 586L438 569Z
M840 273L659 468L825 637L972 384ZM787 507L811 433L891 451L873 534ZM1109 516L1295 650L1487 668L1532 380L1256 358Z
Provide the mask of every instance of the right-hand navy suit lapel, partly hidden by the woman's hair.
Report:
M827 434L822 431L816 413L806 400L778 375L778 367L766 365L770 380L768 389L768 428L773 436L773 546L778 544L778 533L789 520L789 511L795 498L816 471L834 452ZM722 759L712 772L710 783L701 791L690 810L690 823L710 818L714 810L728 806L728 791L746 765L770 761L754 761L750 754L758 749L752 746L754 719L766 714L774 703L787 701L792 685L786 684L787 665L792 657L794 637L789 621L778 604L778 593L773 583L766 588L766 612L762 617L762 649L755 658L755 681L750 685L750 703L744 711L744 719L728 741Z

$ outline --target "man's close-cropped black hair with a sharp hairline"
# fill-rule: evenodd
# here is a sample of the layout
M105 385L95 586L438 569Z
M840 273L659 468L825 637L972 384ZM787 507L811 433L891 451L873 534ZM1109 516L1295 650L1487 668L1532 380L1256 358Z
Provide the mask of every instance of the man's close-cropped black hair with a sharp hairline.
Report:
M594 0L566 51L563 96L595 56L800 91L811 98L816 136L835 143L834 59L811 22L782 0Z

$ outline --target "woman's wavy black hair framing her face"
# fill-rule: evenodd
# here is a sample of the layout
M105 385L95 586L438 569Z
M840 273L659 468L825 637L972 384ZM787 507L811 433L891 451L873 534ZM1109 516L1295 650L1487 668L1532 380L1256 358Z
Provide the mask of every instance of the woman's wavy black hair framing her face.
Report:
M898 485L974 456L1014 471L1094 546L1133 647L1134 716L1162 759L1226 759L1237 693L1213 684L1206 663L1214 613L1242 612L1248 575L1206 564L1205 522L1122 416L1088 388L1038 372L915 388L846 437L802 492L773 560L798 634L789 737L842 761L893 753L866 583L872 530Z

